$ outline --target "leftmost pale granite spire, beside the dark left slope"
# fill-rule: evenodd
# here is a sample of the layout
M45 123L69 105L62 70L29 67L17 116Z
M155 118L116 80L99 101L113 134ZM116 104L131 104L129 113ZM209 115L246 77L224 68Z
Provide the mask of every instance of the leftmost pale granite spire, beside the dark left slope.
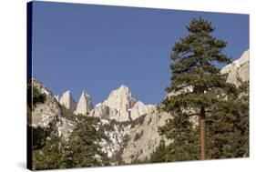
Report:
M67 90L59 99L60 105L66 106L67 109L75 111L77 109L77 102L71 95L71 92Z

